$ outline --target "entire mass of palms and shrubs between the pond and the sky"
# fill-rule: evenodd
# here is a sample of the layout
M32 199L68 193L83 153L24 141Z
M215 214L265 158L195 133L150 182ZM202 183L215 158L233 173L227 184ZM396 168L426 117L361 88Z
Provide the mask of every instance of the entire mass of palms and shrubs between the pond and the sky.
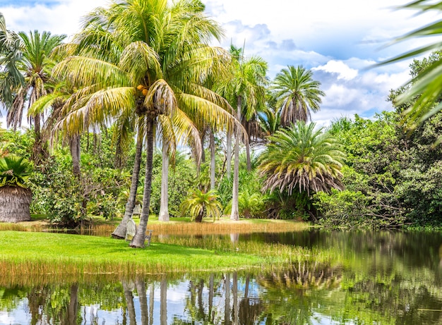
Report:
M124 213L127 220L133 203L142 202L145 227L149 212L159 214L161 201L176 217L191 213L183 202L216 190L222 213L235 220L441 225L442 114L438 79L430 82L441 51L410 65L412 81L388 96L395 111L340 118L323 130L306 124L325 95L311 70L288 66L268 80L263 59L247 59L233 46L208 46L222 30L204 15L201 1L139 3L113 2L90 13L75 42L59 47L64 36L16 34L0 14L0 84L8 87L0 92L0 104L8 124L20 125L26 94L34 103L31 130L0 128L0 157L35 162L33 213L76 226L90 216ZM422 7L427 9L432 8ZM244 146L241 162L237 140ZM153 154L156 145L170 150L167 200L160 199L161 177L162 164L169 163ZM191 158L177 153L181 145L183 152L191 148ZM234 172L228 176L232 156ZM147 167L144 181L141 166ZM2 168L2 184L10 183L12 168Z

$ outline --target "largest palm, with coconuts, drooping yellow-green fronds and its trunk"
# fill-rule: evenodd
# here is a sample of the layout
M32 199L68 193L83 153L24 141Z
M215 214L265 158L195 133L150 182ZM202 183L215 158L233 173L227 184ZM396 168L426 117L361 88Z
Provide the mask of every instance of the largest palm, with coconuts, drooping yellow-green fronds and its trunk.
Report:
M81 132L113 121L122 111L140 116L138 132L144 130L147 162L140 226L131 247L144 246L157 130L173 149L176 139L198 137L193 120L234 128L224 109L227 102L201 86L203 77L221 70L227 58L225 51L206 44L220 36L220 29L190 10L201 6L197 0L172 5L167 0L127 0L97 8L85 18L76 39L85 50L54 69L56 77L79 89L60 127Z

